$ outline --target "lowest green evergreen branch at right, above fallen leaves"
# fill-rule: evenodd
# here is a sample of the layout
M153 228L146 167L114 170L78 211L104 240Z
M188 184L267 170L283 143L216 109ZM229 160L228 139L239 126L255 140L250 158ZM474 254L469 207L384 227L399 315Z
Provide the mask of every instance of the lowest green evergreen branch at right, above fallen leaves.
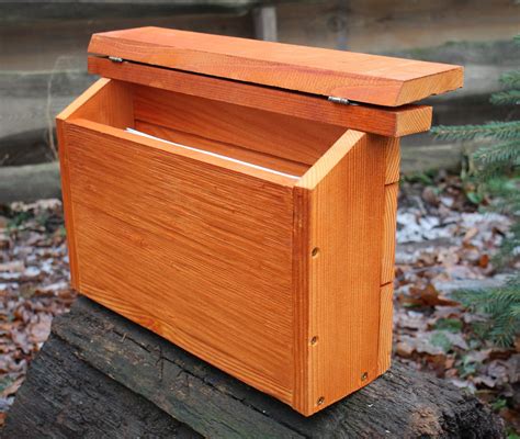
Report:
M477 333L498 346L508 347L520 331L520 274L504 286L487 290L461 290L453 299L487 319L476 326Z

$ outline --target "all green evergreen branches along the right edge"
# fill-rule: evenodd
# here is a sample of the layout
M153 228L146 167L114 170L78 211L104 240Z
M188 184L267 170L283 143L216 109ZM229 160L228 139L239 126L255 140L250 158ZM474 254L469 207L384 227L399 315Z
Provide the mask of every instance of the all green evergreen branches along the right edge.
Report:
M515 37L520 46L520 35ZM494 93L496 105L520 104L520 70L500 77L505 90ZM465 177L471 191L468 200L482 203L489 194L488 209L506 212L513 225L495 262L506 267L519 256L520 249L520 121L488 122L482 125L436 126L434 135L449 140L483 140L473 155L474 169ZM506 285L488 290L459 291L454 294L464 306L484 314L487 319L476 327L478 334L499 346L511 346L520 334L520 274Z

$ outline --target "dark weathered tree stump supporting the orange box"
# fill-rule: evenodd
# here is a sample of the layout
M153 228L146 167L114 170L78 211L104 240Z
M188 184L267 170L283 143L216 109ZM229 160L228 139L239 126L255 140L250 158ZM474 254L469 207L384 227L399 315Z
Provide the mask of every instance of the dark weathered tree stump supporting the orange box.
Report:
M395 362L305 418L80 297L59 316L8 414L5 438L501 438L474 396Z

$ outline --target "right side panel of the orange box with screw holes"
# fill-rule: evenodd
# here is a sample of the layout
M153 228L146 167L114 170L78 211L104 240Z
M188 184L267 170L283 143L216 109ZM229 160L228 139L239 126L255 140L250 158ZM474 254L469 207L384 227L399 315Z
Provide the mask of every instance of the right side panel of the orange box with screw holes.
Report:
M348 131L296 184L294 406L323 409L377 376L384 155Z

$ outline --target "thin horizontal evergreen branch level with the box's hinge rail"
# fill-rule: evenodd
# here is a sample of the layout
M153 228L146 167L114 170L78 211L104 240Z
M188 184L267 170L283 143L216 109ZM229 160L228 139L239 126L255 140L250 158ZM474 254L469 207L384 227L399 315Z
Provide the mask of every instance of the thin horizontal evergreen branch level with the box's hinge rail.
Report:
M520 121L488 122L483 125L439 125L431 133L445 140L473 140L475 138L496 138L506 140L520 137Z

